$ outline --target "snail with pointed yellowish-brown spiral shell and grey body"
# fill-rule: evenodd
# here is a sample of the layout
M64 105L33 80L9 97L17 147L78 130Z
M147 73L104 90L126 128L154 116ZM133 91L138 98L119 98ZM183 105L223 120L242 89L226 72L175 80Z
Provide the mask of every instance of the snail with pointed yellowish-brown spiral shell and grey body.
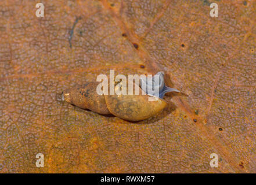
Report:
M128 82L129 83L129 82ZM133 81L132 81L133 83ZM122 85L123 80L114 84L115 92ZM99 114L113 114L128 121L140 121L154 116L165 108L167 102L163 99L167 92L179 92L175 88L165 86L164 72L158 72L153 77L139 79L133 83L140 93L136 94L99 94L97 87L99 82L89 82L84 85L76 85L62 92L62 99L82 109L89 109ZM151 89L151 91L150 91ZM159 93L153 93L158 90ZM149 101L149 97L152 98Z

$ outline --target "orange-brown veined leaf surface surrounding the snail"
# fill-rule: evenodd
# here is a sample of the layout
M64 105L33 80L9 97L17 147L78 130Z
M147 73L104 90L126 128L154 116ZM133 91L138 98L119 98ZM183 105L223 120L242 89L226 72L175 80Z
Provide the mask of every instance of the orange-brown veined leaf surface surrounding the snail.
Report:
M256 172L256 1L37 2L0 2L0 172ZM109 69L183 94L138 123L60 101Z

